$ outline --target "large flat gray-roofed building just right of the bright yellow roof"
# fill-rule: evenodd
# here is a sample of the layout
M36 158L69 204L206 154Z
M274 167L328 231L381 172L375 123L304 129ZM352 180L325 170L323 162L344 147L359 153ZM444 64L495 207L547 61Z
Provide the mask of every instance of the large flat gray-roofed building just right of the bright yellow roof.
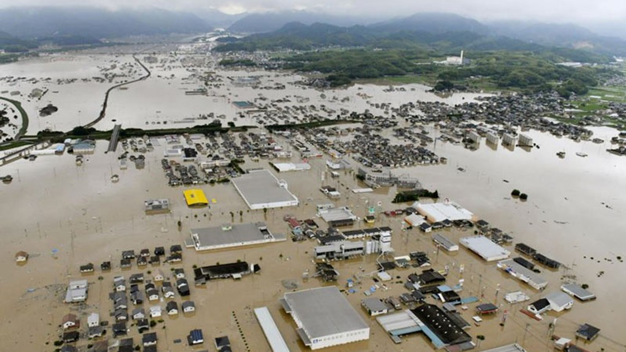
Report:
M250 209L297 205L298 199L269 170L254 170L232 179Z

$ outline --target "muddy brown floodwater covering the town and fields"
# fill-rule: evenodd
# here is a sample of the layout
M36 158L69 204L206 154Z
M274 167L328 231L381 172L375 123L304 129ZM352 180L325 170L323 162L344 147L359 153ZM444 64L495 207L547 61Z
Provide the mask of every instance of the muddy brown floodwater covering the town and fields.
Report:
M77 59L78 60L78 59ZM110 65L112 60L132 63L130 56L93 56L78 60L85 67L93 65L89 60L95 60L97 65ZM87 61L87 62L85 62ZM36 76L48 76L54 70L51 63L34 61ZM49 69L39 68L39 65ZM69 65L64 62L63 65ZM0 76L26 75L28 61L24 63L0 66ZM154 65L156 67L156 65ZM143 127L146 121L173 121L178 118L195 116L200 113L215 112L227 116L230 120L238 113L232 106L233 100L254 100L262 93L267 98L277 99L284 96L304 96L309 98L307 103L298 105L326 104L332 108L346 108L354 111L370 109L367 101L388 102L399 105L414 100L438 100L437 96L427 93L426 88L419 85L404 86L406 91L384 91L386 87L376 85L356 85L345 90L327 90L321 97L321 91L310 88L287 86L286 90L257 91L249 87L235 87L224 81L224 85L215 88L217 96L186 96L185 90L198 88L197 83L189 84L182 80L186 70L180 67L167 69L164 66L161 73L153 68L153 77L140 83L128 86L128 90L115 90L111 93L110 109L107 118L98 124L98 128L110 128L112 118L122 123L123 127ZM26 70L26 73L18 73ZM95 75L98 70L90 71L85 68L85 77ZM166 72L175 73L175 78L165 80L158 75L165 76ZM137 75L141 72L138 71ZM246 71L220 71L222 76L249 76ZM262 75L262 81L268 84L275 81L289 83L299 78L285 76L284 73L257 72ZM62 75L61 75L62 76ZM128 79L128 78L124 78ZM273 80L273 82L270 82ZM24 95L28 94L33 83L21 81L16 83ZM90 120L89 116L97 116L109 83L71 83L59 85L59 93L44 95L36 103L24 103L31 112L38 104L46 105L48 101L59 106L59 111L46 118L38 119L29 127L29 133L51 124L57 129L69 129L80 123ZM71 87L71 88L69 88ZM90 87L90 88L88 88ZM68 88L66 91L62 89ZM414 91L411 91L414 88ZM18 88L16 88L18 89ZM11 88L13 90L13 88ZM358 95L364 93L367 96ZM337 100L332 100L337 96ZM460 103L476 95L453 95L448 98L449 103ZM349 100L342 102L342 98ZM217 101L214 101L217 99ZM44 101L45 100L45 101ZM74 105L75 103L75 105ZM294 105L292 103L287 105ZM93 105L93 106L91 106ZM80 115L73 106L80 106L86 115ZM91 106L91 107L89 107ZM74 110L72 110L74 109ZM156 111L161 111L156 113ZM378 111L382 113L382 111ZM34 113L33 113L34 115ZM38 116L38 115L37 115ZM44 120L47 119L47 120ZM56 120L54 120L56 119ZM85 119L85 120L83 120ZM51 123L54 121L54 123ZM46 123L48 125L46 125ZM191 122L175 124L189 125ZM238 122L244 123L244 122ZM252 123L245 122L246 124ZM198 124L193 122L193 124ZM150 128L157 128L163 124ZM170 123L166 125L170 127ZM427 128L428 129L428 128ZM438 130L430 127L432 137L438 135ZM595 128L594 137L609 140L615 135L614 130ZM487 318L481 326L472 326L468 333L471 336L483 334L485 341L480 348L492 348L505 343L518 341L529 351L550 350L548 339L548 323L558 316L557 328L554 333L560 336L573 338L573 331L578 324L588 322L602 329L602 336L589 346L590 350L623 349L626 341L621 334L622 326L626 324L626 317L622 309L615 304L615 292L626 290L626 281L623 280L623 262L617 256L624 256L626 246L620 239L623 230L626 199L620 196L625 189L626 158L618 157L605 152L609 143L600 145L592 142L573 142L568 138L556 138L548 133L524 132L530 135L540 148L533 148L530 152L522 148L507 148L499 145L496 148L481 142L478 150L468 150L459 145L442 143L431 145L439 156L447 157L446 165L431 165L412 168L401 168L397 173L411 173L419 177L424 187L439 190L442 197L458 202L478 215L488 220L492 225L509 232L515 237L515 242L525 242L535 247L548 257L556 259L570 269L549 271L542 269L542 275L550 283L545 292L536 292L505 276L495 268L495 264L486 264L477 256L470 254L464 248L457 253L435 251L428 235L418 230L404 231L399 218L386 218L378 215L376 225L389 225L394 229L393 247L397 255L406 255L411 251L427 251L433 260L435 269L451 268L448 284L454 284L458 279L464 279L462 296L479 296L484 294L483 302L490 301L503 303L501 296L506 292L521 289L531 295L531 299L538 299L543 294L558 290L564 275L575 275L578 283L587 283L590 291L598 297L589 303L575 302L574 307L567 313L548 314L543 321L534 321L518 310L525 303L509 306L509 314L504 327L499 325L501 314ZM277 137L280 143L287 147L287 140ZM0 244L3 251L0 264L5 268L0 273L0 283L3 284L4 299L0 303L0 312L9 317L2 323L0 339L10 341L11 346L24 350L51 349L52 342L58 339L58 324L64 314L70 311L78 312L86 321L86 315L98 311L102 319L109 319L108 312L113 304L108 299L108 292L112 287L113 276L130 276L135 272L155 271L155 267L148 266L138 269L134 264L130 270L122 271L119 268L121 251L142 248L153 249L155 246L169 246L183 244L192 227L215 226L230 221L229 213L235 212L235 222L265 221L272 232L287 232L287 225L282 221L285 214L294 214L299 219L314 217L315 205L329 202L318 188L324 184L337 187L342 197L336 200L337 205L349 205L354 212L365 215L367 205L382 203L382 209L395 209L399 205L391 204L395 189L379 189L371 194L352 194L350 189L362 187L357 184L354 175L341 172L339 179L329 179L323 158L310 160L312 170L306 172L281 173L279 179L289 182L289 189L302 204L299 207L269 210L267 215L262 211L248 212L244 202L230 184L203 185L209 198L217 199L217 204L210 209L188 209L182 197L183 187L172 188L167 186L167 179L160 166L165 142L160 140L160 147L154 152L146 154L146 166L143 170L136 170L133 163L129 163L127 170L120 170L116 153L103 153L106 142L98 142L96 153L87 155L86 162L77 167L74 157L41 156L34 162L19 160L2 167L0 175L11 174L13 183L0 185L0 214L3 214L3 236ZM494 150L495 149L495 150ZM558 158L557 152L565 151L564 159ZM578 157L576 152L584 152L588 157ZM298 157L292 161L297 162ZM268 167L267 161L252 162L247 160L245 168ZM459 171L458 168L465 171ZM110 176L118 174L117 183L110 181ZM326 175L322 181L321 175ZM506 180L506 182L505 182ZM528 200L511 199L513 189L520 189L528 194ZM172 212L162 215L145 215L143 200L150 198L167 197L172 203ZM243 215L239 216L239 210ZM324 228L321 219L315 218ZM182 230L178 230L177 221L182 222ZM355 227L364 227L357 224ZM469 236L469 231L444 230L446 236L458 241L459 237ZM307 349L297 338L295 324L280 308L277 299L285 288L281 281L292 279L300 284L300 288L322 285L318 279L302 280L302 272L314 270L312 264L312 249L316 244L305 242L280 242L255 246L245 249L228 251L195 253L190 249L183 252L182 264L170 266L162 264L160 269L166 274L170 267L184 267L188 276L192 276L193 265L208 265L216 262L232 262L237 259L248 262L258 262L262 267L260 274L244 277L240 281L209 282L207 287L192 287L190 299L196 302L197 312L193 316L165 317L164 322L158 324L155 331L159 336L159 348L170 351L188 351L188 346L174 344L173 339L185 339L188 331L193 328L202 328L205 331L205 349L211 348L211 338L227 334L233 341L233 349L238 351L270 351L269 345L260 330L252 313L252 308L268 306L274 316L280 331L285 336L287 344L293 351ZM58 250L56 256L51 255L53 249ZM508 247L513 252L513 247ZM13 256L17 251L27 251L31 258L24 266L16 266ZM592 259L593 258L593 259ZM109 273L100 273L98 266L102 261L111 260L114 269ZM598 262L599 261L599 262ZM93 262L96 266L95 274L81 276L78 266ZM374 257L354 259L346 262L336 262L340 272L339 286L343 286L346 279L357 272L371 272L376 269ZM461 275L458 268L464 265L465 271ZM361 270L362 268L362 270ZM387 290L380 287L374 296L386 298L406 292L402 282L414 269L399 269L392 272L399 276L387 282ZM598 276L600 272L602 275ZM99 276L102 279L99 279ZM85 277L90 281L90 298L85 306L75 308L61 303L64 295L64 285L69 278ZM361 285L357 285L356 294L348 296L349 301L371 323L371 338L369 341L354 343L327 351L409 351L431 346L421 335L406 338L401 344L393 344L384 331L372 318L366 317L360 308L359 302L365 296L364 289L374 282L365 277ZM496 290L500 288L499 294ZM34 292L27 292L34 289ZM177 297L178 303L182 302ZM429 299L432 303L432 299ZM165 306L165 303L159 303ZM148 308L151 304L144 304ZM474 315L475 304L469 304L467 311L462 310L464 319L471 321ZM42 309L43 308L43 309ZM78 310L76 310L78 309ZM130 308L131 309L131 308ZM598 316L602 312L602 317ZM234 315L233 315L234 313ZM235 319L235 317L237 319ZM109 319L111 320L111 319ZM240 329L236 322L239 321ZM527 325L528 324L528 325ZM164 328L163 328L164 327ZM140 338L134 328L130 336L135 340ZM46 346L45 343L49 345ZM78 343L86 346L85 339Z

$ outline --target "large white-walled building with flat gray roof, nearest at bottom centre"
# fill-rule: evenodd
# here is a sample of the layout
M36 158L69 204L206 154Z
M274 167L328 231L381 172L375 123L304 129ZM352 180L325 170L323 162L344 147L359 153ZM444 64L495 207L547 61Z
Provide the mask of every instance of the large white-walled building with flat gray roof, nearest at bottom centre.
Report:
M302 342L311 349L369 339L369 325L336 286L287 292L280 304L294 319Z

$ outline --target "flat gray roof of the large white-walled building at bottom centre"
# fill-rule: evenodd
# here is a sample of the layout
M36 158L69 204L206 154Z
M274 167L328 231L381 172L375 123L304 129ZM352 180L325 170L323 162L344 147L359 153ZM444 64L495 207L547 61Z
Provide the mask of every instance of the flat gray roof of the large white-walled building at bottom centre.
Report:
M369 328L336 286L287 292L281 303L297 316L309 339Z

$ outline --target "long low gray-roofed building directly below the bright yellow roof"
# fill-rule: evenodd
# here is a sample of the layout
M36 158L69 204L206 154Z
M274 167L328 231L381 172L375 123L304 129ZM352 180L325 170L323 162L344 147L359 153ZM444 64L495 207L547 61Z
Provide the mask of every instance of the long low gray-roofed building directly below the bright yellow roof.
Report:
M249 242L282 241L282 236L274 236L264 222L249 224L228 224L215 227L192 229L191 234L197 239L197 247L228 247L235 244L244 246Z

